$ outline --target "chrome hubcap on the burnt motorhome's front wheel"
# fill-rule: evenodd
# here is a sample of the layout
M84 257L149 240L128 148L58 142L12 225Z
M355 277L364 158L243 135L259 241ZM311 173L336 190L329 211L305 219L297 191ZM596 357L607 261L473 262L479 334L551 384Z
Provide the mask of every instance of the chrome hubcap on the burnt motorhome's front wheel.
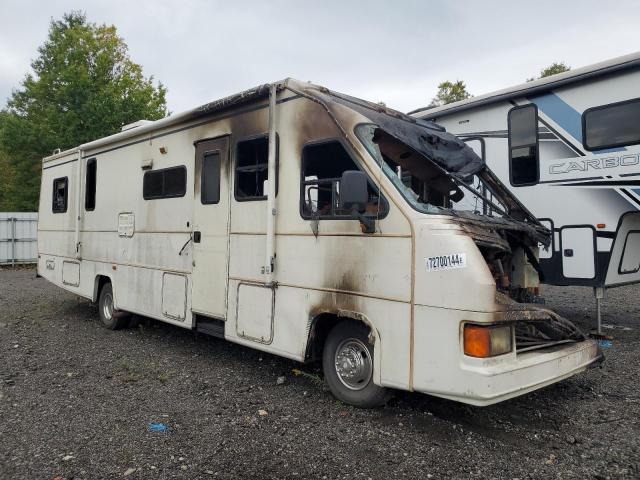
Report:
M349 338L338 345L335 365L338 378L350 390L362 390L371 380L371 355L366 345L356 338Z

